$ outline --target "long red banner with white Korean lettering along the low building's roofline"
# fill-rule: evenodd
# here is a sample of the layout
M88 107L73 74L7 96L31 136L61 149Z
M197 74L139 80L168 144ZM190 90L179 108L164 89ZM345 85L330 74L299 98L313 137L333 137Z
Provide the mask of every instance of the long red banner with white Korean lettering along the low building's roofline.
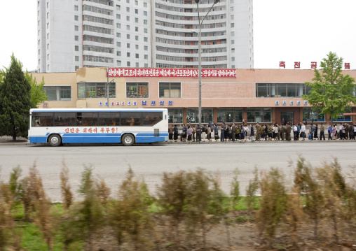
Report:
M202 69L202 78L236 78L236 69ZM198 69L109 68L109 77L198 78Z

